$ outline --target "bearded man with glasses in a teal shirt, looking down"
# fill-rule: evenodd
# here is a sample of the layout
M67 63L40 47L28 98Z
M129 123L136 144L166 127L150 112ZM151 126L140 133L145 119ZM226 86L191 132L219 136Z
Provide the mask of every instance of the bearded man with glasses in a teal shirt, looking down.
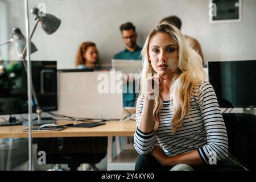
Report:
M137 33L133 23L127 22L120 26L123 43L125 43L125 49L114 55L113 59L124 60L141 60L142 48L137 45ZM130 79L130 81L133 81ZM135 93L134 90L129 90L129 78L125 81L127 84L123 85L123 106L133 107L135 106ZM133 86L134 87L134 86Z

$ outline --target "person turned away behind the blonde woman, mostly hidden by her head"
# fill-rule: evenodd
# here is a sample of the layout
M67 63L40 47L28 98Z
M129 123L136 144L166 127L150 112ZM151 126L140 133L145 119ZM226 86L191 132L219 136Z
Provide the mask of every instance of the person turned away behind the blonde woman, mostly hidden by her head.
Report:
M179 30L181 28L181 20L177 16L167 16L166 18L163 18L160 21L160 23L173 24ZM187 40L187 43L189 44L189 46L191 46L197 53L199 53L199 55L201 56L201 59L203 61L202 64L204 65L204 55L201 50L201 46L200 46L199 42L195 38L192 38L191 36L187 36L187 35L184 35L184 36L185 36L185 40Z

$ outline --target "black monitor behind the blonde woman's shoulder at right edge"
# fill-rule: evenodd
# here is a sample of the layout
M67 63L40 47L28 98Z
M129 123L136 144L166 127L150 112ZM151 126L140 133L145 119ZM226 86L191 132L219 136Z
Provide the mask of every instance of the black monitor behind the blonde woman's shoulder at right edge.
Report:
M208 62L220 107L256 107L256 60Z

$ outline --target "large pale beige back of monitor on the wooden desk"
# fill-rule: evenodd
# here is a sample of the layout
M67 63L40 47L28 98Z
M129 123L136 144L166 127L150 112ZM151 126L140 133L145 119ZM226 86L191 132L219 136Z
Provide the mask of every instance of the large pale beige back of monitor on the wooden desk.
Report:
M58 71L57 114L73 118L121 119L123 116L122 88L120 93L115 89L119 82L115 80L118 73L121 74L121 72L115 72L113 76L109 71ZM105 85L102 84L104 80ZM122 80L119 85L122 87ZM104 93L99 90L102 86L106 86ZM114 90L110 90L112 86Z

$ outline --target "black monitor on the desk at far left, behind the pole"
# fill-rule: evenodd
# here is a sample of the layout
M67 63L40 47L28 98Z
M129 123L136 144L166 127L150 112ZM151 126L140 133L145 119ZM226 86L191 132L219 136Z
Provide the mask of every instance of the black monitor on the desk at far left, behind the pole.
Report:
M40 109L57 110L56 61L31 61L32 83ZM32 101L33 111L36 110ZM28 113L23 61L0 61L0 115Z

